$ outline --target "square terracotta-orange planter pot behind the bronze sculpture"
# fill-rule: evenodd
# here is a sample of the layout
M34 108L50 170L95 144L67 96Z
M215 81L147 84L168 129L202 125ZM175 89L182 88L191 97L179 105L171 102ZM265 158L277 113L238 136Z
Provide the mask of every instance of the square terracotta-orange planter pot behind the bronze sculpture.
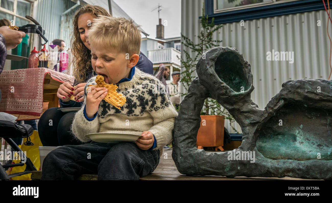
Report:
M216 147L223 151L225 116L201 115L201 126L197 133L198 148Z

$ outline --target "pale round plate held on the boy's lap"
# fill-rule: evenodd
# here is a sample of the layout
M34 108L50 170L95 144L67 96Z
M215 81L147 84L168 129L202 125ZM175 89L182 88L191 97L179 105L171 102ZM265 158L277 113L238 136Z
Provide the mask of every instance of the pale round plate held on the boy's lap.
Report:
M95 142L119 143L135 142L141 135L124 134L124 133L90 133L85 135Z

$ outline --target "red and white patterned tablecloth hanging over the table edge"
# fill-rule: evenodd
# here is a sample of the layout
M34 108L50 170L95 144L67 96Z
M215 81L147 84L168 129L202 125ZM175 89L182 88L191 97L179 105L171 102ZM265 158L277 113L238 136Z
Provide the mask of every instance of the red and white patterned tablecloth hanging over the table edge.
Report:
M47 68L2 71L0 112L39 116L43 105L44 78L74 83L74 77Z

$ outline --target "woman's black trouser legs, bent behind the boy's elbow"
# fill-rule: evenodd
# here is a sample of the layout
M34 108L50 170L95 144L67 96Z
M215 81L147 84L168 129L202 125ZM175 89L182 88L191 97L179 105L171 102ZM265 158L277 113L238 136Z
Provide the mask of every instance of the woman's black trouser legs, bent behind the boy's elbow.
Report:
M83 144L70 132L76 111L63 113L58 107L47 109L39 119L38 133L43 146Z

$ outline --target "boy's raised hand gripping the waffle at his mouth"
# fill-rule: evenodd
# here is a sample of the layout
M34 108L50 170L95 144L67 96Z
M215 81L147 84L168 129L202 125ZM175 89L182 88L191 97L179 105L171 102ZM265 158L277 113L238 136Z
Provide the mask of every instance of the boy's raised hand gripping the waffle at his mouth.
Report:
M77 87L77 86L76 86ZM100 102L107 95L106 88L100 87L89 87L88 93L86 95L86 104L85 104L85 113L88 118L93 118L93 116L97 113Z

